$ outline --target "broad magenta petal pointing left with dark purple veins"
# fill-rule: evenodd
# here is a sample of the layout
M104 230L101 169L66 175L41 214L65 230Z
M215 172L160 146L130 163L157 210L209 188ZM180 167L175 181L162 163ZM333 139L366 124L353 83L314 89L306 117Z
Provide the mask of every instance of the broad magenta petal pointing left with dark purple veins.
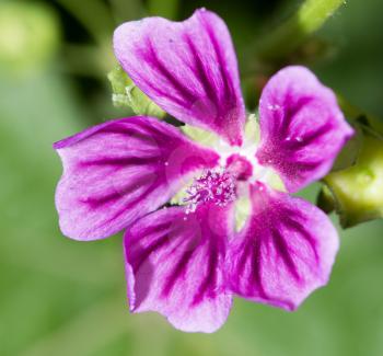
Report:
M56 192L62 233L106 238L166 203L218 154L150 117L90 128L55 145L63 174Z

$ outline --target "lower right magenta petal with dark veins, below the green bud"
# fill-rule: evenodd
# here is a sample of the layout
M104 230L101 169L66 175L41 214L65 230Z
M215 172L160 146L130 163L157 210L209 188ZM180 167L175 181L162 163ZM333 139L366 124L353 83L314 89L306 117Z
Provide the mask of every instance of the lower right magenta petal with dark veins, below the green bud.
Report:
M314 205L256 183L252 214L231 241L231 290L244 298L295 309L329 277L338 236Z

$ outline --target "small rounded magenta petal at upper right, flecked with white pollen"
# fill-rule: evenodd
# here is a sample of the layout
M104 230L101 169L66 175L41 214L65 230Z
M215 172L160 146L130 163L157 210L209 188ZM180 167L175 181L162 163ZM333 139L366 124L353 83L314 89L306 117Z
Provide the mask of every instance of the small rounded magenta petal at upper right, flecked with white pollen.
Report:
M279 172L289 192L323 177L353 134L333 91L304 67L287 67L269 80L259 120L257 159Z

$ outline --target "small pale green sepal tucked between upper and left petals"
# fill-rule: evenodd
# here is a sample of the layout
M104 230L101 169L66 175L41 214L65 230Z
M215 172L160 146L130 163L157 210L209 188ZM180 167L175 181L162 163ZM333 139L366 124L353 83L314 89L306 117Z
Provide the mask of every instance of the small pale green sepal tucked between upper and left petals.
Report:
M166 113L134 83L121 67L113 69L107 78L112 84L112 100L115 106L130 107L137 115L165 117Z

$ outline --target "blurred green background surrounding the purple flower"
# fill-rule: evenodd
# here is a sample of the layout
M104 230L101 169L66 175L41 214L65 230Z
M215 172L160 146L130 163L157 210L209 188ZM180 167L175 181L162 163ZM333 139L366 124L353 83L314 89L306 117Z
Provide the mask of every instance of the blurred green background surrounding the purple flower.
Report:
M236 299L211 335L181 333L158 314L129 314L121 236L81 243L58 229L61 165L51 143L129 115L113 107L105 76L116 24L148 14L182 20L201 5L218 12L252 106L269 69L247 72L256 61L248 47L299 2L0 1L0 355L383 355L382 220L340 232L329 285L297 312ZM382 13L381 0L347 0L318 33L324 49L306 47L320 59L303 50L286 61L307 64L352 104L383 117Z

